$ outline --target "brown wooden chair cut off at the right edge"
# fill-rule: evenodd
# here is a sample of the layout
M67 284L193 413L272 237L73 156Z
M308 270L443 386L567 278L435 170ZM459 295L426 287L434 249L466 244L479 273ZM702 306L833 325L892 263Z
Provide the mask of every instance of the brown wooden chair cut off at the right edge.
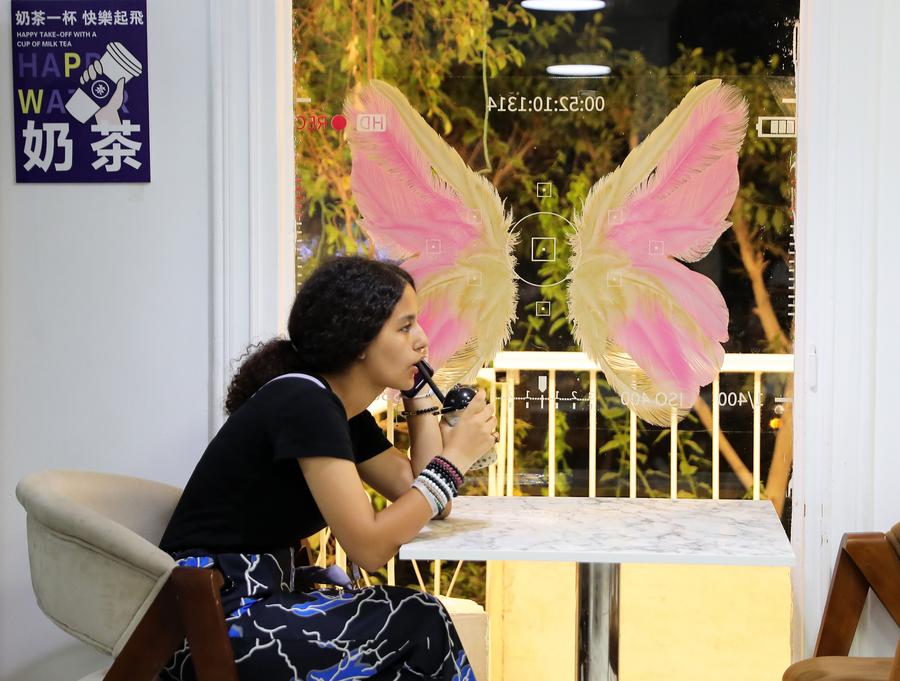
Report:
M893 658L848 657L869 589L900 626L900 523L844 535L813 657L788 667L783 681L900 681L900 640Z

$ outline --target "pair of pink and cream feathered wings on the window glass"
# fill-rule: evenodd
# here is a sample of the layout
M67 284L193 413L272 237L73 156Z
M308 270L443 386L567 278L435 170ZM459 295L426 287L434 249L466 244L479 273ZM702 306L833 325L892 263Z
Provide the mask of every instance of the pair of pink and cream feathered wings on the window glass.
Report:
M352 189L376 246L417 282L439 384L471 381L509 340L516 311L512 215L497 190L387 83L345 104ZM747 128L740 92L693 88L575 216L568 276L576 341L637 415L667 425L722 366L728 309L687 268L729 227Z

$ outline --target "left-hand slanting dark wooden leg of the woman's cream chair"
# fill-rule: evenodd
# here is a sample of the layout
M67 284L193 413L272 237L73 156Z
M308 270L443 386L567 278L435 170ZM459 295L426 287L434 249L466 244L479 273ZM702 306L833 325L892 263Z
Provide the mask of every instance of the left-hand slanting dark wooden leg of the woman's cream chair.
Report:
M184 637L170 580L157 594L103 681L154 681Z

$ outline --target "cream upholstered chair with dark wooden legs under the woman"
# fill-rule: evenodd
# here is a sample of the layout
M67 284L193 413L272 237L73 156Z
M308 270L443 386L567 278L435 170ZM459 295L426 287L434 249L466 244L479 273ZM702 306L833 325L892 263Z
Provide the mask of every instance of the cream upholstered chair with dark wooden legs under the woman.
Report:
M82 681L153 681L187 638L200 681L238 681L216 570L180 568L156 545L181 490L87 471L23 478L28 558L41 610L111 655Z

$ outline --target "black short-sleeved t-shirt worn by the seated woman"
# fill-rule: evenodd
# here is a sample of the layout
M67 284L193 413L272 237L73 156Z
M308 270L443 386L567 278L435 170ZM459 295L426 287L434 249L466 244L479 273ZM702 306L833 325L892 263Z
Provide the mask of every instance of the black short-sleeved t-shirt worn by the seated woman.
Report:
M174 553L260 553L296 546L325 527L297 459L362 463L389 449L368 412L349 421L327 382L288 376L260 388L203 453L159 545Z

